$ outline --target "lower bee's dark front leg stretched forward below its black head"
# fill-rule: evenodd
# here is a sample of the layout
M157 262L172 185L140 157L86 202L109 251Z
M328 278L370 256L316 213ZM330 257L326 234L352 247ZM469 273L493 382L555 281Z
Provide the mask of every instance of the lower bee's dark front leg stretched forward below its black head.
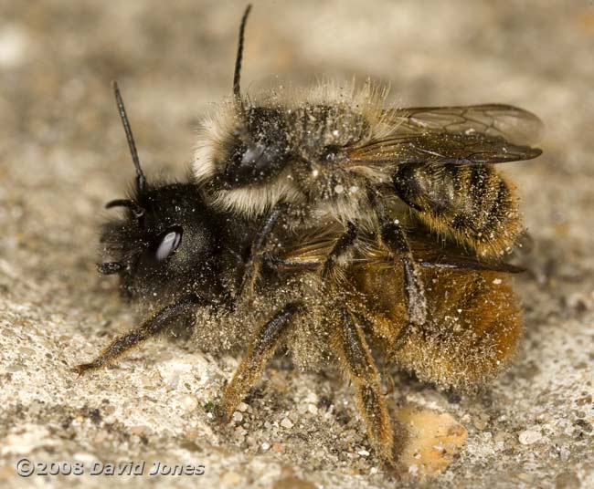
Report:
M205 301L200 297L186 296L157 312L153 317L148 318L141 326L128 331L122 336L115 338L111 343L101 351L99 356L90 363L81 363L72 369L79 375L88 370L100 369L104 365L111 363L114 359L122 356L125 352L132 349L147 338L154 337L162 333L171 326L175 319L185 317L187 314L203 306Z

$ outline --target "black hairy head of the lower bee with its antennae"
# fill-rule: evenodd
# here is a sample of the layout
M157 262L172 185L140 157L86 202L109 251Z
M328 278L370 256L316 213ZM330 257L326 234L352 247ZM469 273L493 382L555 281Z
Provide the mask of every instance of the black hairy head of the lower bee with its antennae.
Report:
M130 145L136 180L128 198L111 201L122 219L103 225L102 274L118 274L129 297L159 298L200 289L217 279L219 239L215 215L194 182L148 184L117 85L114 91ZM191 289L191 290L186 290Z

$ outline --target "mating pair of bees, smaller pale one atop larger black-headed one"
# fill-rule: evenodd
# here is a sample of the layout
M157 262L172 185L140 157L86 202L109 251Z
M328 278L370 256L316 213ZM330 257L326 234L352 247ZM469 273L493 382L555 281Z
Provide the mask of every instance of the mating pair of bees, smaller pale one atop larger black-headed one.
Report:
M369 440L394 465L398 437L369 345L454 388L492 378L510 359L521 317L507 274L519 269L504 255L523 227L493 165L538 156L530 143L541 123L505 105L386 108L386 92L370 83L249 98L239 86L248 15L233 98L203 123L187 182L146 180L114 86L136 182L107 204L125 213L103 227L99 270L161 308L76 370L196 311L216 315L223 334L239 317L231 342L251 339L223 415L282 344L305 337L353 380Z

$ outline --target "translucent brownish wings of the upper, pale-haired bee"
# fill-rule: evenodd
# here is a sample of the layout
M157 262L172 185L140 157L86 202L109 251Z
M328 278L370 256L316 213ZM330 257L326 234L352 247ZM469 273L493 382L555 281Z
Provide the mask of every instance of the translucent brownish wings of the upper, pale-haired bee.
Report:
M405 163L502 163L531 160L542 151L531 145L542 122L509 105L390 109L394 130L347 149L346 166Z

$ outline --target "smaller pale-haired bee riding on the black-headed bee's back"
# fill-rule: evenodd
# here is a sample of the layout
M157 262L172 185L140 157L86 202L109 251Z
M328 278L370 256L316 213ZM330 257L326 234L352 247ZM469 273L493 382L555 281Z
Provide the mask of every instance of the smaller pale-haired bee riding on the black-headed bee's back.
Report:
M541 154L542 123L502 104L397 109L387 90L325 83L304 91L241 93L247 7L239 28L233 98L202 124L193 165L209 203L275 225L336 221L345 232L318 273L340 276L357 234L373 232L398 256L408 319L422 324L427 297L400 222L417 225L483 261L501 261L524 232L514 186L494 165ZM401 204L395 212L395 199ZM280 224L278 224L278 223ZM266 239L260 243L266 243ZM252 248L242 291L251 295L262 250Z

